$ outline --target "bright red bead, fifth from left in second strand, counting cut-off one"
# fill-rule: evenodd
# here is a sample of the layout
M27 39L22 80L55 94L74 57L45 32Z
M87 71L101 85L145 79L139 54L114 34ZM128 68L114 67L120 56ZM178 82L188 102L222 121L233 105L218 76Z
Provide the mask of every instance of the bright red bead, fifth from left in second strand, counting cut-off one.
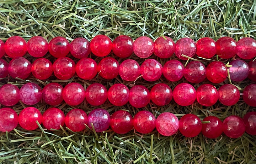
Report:
M82 58L76 63L76 74L84 79L90 80L94 78L97 73L97 63L91 58Z

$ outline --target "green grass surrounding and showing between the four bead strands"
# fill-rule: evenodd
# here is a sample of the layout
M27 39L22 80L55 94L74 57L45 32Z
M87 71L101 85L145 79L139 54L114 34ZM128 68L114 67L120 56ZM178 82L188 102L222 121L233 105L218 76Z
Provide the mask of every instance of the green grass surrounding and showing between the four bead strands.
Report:
M29 40L32 36L41 35L48 41L55 36L66 37L69 41L85 37L90 41L98 34L105 34L112 40L118 35L128 35L134 40L139 36L149 36L155 40L164 35L170 36L175 42L182 37L190 37L196 41L205 36L214 40L221 36L230 36L236 41L241 37L255 39L255 5L255 0L0 0L0 39L5 41L10 36L19 35ZM113 54L109 56L115 57ZM52 62L55 60L49 54L45 57ZM90 57L97 62L101 60L93 54ZM31 62L35 60L29 54L25 58ZM120 63L124 60L115 58ZM134 54L130 58L137 60L139 64L144 61ZM159 59L154 55L150 58L159 60L161 64L169 60ZM7 56L4 59L11 60ZM171 59L177 58L174 55ZM216 57L212 59L217 60ZM230 60L220 61L226 64ZM185 63L186 61L183 62ZM203 63L207 65L209 61L203 60ZM48 80L38 81L30 76L27 80L43 87L57 79L51 76ZM95 82L102 83L107 89L114 83L124 83L128 87L133 84L122 81L119 76L114 80L95 77L85 81L74 77L57 82L65 86L71 81L79 82L85 88ZM159 82L165 82L174 89L178 83L186 80L168 82L162 77L156 82L146 82L140 78L135 84L142 84L150 89ZM26 81L7 77L0 81L0 86L6 83L21 87ZM214 86L219 88L225 83L230 82L227 79ZM245 80L234 84L242 92L249 83L250 80ZM200 84L194 84L194 87L197 88ZM20 102L13 109L19 113L24 107L26 105ZM34 107L43 113L50 106L41 102ZM74 108L64 102L58 107L65 113ZM195 102L192 106L182 107L172 100L171 104L163 107L149 104L143 109L135 109L129 104L116 107L109 102L97 107L84 102L75 107L87 113L101 107L110 113L127 109L134 115L139 110L148 110L156 117L162 112L172 112L179 118L185 113L194 113L201 119L213 115L222 120L230 115L243 117L248 111L256 111L255 107L246 105L242 98L234 106L223 106L217 102L211 107L202 107ZM256 164L256 137L244 134L238 139L230 139L225 135L218 139L207 139L202 134L186 138L180 133L163 137L156 130L147 135L134 131L118 135L111 130L96 134L89 129L73 133L65 128L45 131L40 127L34 131L26 131L17 127L8 134L0 133L0 163Z

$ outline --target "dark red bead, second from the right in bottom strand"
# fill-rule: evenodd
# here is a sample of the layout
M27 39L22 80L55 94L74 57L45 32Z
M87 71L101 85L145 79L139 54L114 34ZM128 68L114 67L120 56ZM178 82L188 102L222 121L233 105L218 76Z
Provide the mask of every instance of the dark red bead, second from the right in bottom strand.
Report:
M239 138L245 133L245 124L238 116L229 116L223 121L223 132L230 138Z

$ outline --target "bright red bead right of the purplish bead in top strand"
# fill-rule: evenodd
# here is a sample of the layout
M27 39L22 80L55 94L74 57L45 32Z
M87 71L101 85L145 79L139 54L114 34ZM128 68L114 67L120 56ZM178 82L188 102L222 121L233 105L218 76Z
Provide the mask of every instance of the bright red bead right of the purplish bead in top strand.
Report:
M106 35L97 35L91 40L90 47L93 54L105 57L112 50L112 42Z

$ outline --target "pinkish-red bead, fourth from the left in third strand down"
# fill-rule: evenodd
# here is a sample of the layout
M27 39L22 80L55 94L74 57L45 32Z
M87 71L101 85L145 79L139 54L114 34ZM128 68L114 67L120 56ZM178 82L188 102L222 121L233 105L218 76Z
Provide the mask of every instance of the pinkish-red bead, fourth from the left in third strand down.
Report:
M68 105L79 105L85 99L85 89L79 83L69 83L63 88L62 98Z

